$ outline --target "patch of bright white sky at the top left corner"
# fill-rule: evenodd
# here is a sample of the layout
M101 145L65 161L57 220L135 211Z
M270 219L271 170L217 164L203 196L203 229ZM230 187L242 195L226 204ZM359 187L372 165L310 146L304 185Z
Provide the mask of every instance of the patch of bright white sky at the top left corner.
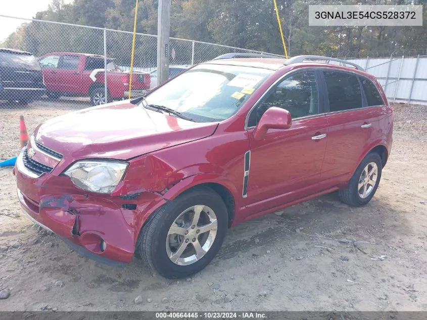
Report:
M19 18L33 18L38 11L48 9L52 0L0 0L0 15L13 16ZM71 3L72 0L65 0ZM0 17L0 41L3 41L9 34L25 20L9 19Z

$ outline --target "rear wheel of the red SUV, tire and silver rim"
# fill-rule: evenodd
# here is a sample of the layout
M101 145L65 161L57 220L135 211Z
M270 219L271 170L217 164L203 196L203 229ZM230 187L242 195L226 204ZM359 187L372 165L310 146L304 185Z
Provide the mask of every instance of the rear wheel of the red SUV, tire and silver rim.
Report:
M377 153L369 153L359 164L347 186L338 191L340 200L352 207L367 204L381 179L383 162Z

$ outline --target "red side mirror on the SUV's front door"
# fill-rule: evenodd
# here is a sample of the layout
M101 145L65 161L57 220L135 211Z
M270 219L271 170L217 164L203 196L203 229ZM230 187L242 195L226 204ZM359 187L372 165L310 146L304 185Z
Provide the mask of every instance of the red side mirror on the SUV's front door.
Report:
M262 140L268 129L289 129L292 125L291 113L279 107L268 108L254 130L254 139Z

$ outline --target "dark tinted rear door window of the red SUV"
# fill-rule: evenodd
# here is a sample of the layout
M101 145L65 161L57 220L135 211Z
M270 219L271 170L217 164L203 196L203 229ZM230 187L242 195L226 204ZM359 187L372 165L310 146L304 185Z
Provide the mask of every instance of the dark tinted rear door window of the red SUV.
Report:
M355 75L338 71L323 71L323 75L330 112L362 108L362 92Z

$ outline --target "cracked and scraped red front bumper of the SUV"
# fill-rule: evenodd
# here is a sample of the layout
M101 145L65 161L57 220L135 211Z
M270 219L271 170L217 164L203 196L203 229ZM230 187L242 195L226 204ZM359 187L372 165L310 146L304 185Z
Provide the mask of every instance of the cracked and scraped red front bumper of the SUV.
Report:
M14 173L19 202L30 220L86 257L114 265L129 263L140 227L153 203L163 199L148 192L135 199L85 192L61 175L61 168L41 175L27 172L22 153Z

